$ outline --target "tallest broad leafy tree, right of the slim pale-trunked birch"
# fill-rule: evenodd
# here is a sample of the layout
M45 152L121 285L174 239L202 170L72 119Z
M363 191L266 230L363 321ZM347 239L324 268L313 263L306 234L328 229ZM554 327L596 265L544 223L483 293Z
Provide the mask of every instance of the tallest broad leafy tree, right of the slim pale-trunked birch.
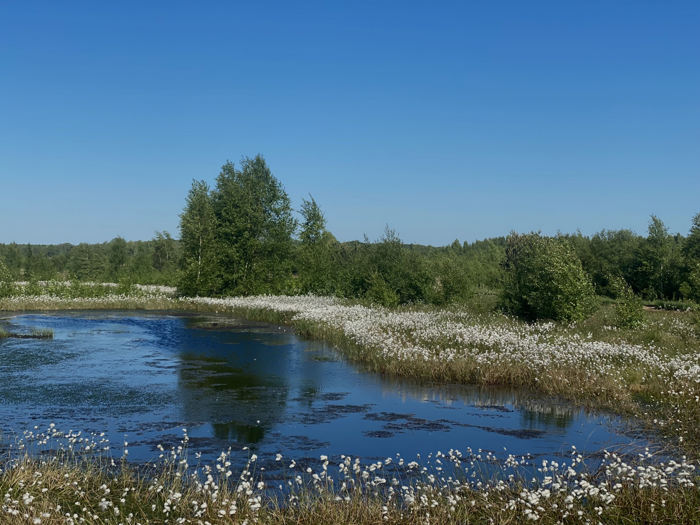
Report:
M292 217L289 197L261 155L227 161L213 194L222 293L279 293L291 277Z

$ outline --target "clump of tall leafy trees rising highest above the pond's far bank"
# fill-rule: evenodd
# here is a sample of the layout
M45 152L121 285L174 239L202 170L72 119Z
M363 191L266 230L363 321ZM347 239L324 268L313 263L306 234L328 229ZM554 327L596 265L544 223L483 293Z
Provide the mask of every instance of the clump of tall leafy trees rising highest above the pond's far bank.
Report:
M186 295L281 293L292 279L297 226L288 195L262 156L226 162L209 190L193 181L180 216L178 288Z

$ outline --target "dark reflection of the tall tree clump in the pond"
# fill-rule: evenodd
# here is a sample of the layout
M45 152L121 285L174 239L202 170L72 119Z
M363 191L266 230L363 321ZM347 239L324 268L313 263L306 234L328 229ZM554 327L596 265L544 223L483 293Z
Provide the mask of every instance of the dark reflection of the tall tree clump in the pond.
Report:
M328 401L328 393L322 393L322 360L307 353L326 356L325 345L241 318L200 316L186 319L185 325L190 329L182 330L178 340L183 416L211 422L216 437L260 442L283 420L290 397L297 396L294 400L307 408Z

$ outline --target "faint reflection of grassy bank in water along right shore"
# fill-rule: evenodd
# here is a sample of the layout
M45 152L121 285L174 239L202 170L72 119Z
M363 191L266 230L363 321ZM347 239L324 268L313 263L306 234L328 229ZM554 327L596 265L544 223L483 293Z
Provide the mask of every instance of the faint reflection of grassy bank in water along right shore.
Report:
M514 386L480 386L437 384L377 374L382 390L398 393L403 399L435 401L451 406L465 402L484 409L514 409L521 416L522 428L567 428L580 413L580 408L554 398Z

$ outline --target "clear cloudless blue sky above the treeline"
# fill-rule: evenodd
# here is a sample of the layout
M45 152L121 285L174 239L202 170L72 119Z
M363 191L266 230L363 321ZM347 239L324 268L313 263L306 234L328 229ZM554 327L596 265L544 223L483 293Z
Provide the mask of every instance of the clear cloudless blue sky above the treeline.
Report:
M341 240L686 233L700 2L3 2L0 242L177 235L262 153Z

